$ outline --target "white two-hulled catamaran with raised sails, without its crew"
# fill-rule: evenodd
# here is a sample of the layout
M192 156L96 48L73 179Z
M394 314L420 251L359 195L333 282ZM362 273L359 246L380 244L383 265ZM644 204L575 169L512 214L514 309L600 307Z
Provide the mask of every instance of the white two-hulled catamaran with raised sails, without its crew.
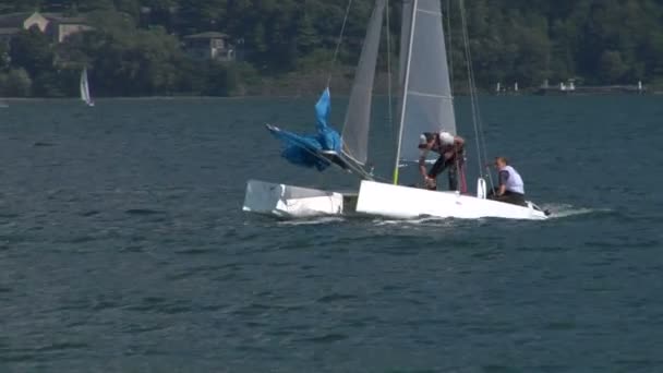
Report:
M466 38L466 57L470 63L462 0L460 0L460 7ZM456 116L439 0L411 0L403 3L400 40L399 131L393 183L374 180L372 175L364 170L369 148L367 133L373 77L384 12L385 0L377 0L364 39L350 104L346 112L341 152L337 152L338 147L325 148L322 145L320 149L317 145L298 147L300 152L303 149L326 166L336 164L357 173L362 179L359 193L303 189L250 180L244 198L244 210L289 217L355 212L393 218L432 216L469 219L482 217L545 219L546 214L529 201L526 206L520 206L489 200L486 181L481 177L477 181L474 195L460 193L460 191L431 191L399 184L399 167L415 164L419 158L417 144L421 133L444 130L456 134ZM472 92L471 71L469 75ZM326 92L328 93L328 91ZM474 99L475 96L472 96L473 110L475 108ZM478 139L483 135L477 123L474 123L474 131ZM290 145L296 145L296 143L291 142ZM480 153L479 149L478 153ZM333 159L324 155L332 155ZM292 161L286 152L284 152L284 157ZM335 161L338 159L340 161ZM481 165L481 175L485 159L480 154L477 160Z

